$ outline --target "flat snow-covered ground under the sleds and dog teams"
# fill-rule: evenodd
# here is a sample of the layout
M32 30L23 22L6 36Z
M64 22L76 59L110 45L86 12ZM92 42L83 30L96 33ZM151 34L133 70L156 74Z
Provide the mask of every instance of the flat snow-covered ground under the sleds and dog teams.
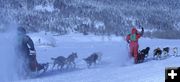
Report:
M40 63L50 62L51 57L65 56L72 52L78 53L77 68L73 70L48 71L37 78L18 80L15 82L164 82L165 68L180 66L180 57L170 57L164 60L150 60L141 64L133 64L128 55L128 44L122 37L99 37L70 34L53 36L47 33L29 34L36 45L37 59ZM39 41L40 39L40 41ZM141 38L140 49L150 47L150 57L157 47L180 48L180 40ZM47 45L53 44L55 46ZM87 68L82 60L93 52L103 54L102 61ZM170 51L172 55L172 51Z

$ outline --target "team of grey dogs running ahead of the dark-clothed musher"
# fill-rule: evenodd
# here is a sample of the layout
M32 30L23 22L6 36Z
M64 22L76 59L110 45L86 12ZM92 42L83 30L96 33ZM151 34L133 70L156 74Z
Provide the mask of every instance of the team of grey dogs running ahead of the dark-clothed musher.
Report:
M66 68L75 68L76 63L75 59L77 59L77 53L71 53L67 58L64 56L58 56L56 58L51 58L53 60L53 67L56 66L57 69L63 70L64 66L66 65ZM87 63L88 68L92 66L92 64L97 64L97 62L100 62L102 58L102 53L96 52L92 53L89 57L84 58L83 60Z

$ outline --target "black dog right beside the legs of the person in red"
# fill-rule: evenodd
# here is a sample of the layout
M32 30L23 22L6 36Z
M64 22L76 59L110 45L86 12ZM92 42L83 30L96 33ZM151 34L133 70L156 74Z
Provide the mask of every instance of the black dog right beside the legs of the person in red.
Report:
M149 55L150 47L146 47L146 49L143 49L139 51L138 53L138 63L144 62L144 59L148 57Z

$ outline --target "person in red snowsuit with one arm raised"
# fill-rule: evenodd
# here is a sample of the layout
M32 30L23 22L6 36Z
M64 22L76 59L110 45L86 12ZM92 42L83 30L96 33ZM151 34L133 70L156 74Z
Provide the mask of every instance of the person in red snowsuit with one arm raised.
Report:
M134 57L134 63L138 63L138 40L144 34L144 28L139 33L135 27L132 28L131 33L127 35L126 40L129 43L130 54Z

